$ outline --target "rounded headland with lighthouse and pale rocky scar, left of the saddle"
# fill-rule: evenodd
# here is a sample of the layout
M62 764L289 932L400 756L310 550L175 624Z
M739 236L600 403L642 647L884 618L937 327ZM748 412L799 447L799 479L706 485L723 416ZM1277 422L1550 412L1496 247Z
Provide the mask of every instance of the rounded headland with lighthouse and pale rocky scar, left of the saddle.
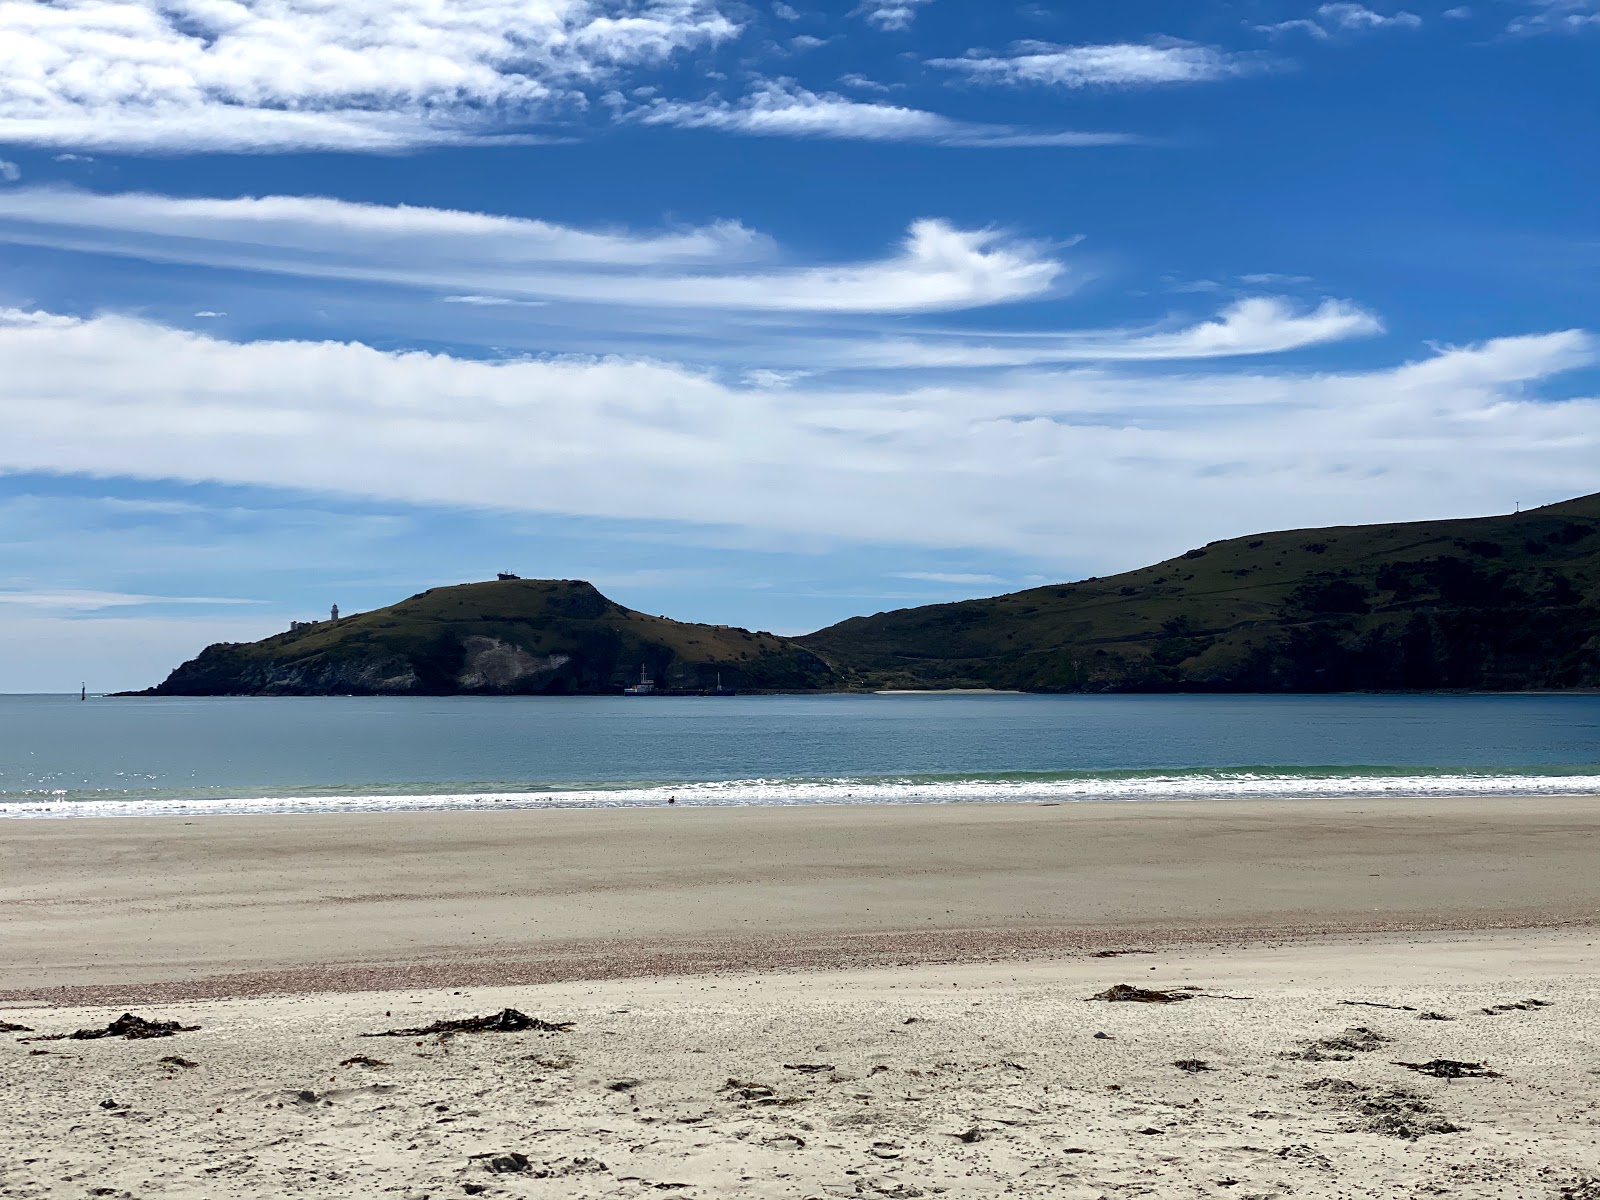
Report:
M771 634L694 626L613 603L573 579L434 587L338 624L208 646L152 694L606 693L638 680L702 690L835 683Z

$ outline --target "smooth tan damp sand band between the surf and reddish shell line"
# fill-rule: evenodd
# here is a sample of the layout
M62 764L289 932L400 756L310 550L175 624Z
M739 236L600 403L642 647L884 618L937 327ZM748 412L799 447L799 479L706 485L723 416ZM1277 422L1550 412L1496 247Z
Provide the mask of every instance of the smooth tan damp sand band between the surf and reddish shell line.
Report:
M1600 915L1600 798L0 822L0 995L1059 957Z

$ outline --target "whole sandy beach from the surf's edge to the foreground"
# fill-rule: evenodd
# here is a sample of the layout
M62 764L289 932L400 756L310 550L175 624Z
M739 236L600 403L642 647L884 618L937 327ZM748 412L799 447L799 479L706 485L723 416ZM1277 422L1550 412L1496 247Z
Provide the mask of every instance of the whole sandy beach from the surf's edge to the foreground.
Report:
M1597 826L1595 798L6 822L0 1194L1594 1200ZM1091 1000L1118 984L1192 998ZM506 1008L571 1027L363 1037ZM195 1029L26 1040L123 1011Z

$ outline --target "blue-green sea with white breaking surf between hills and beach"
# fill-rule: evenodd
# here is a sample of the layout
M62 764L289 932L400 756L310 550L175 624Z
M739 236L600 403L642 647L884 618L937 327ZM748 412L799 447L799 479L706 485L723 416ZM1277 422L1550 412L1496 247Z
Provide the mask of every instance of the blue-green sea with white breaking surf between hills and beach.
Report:
M0 696L0 816L1600 792L1600 696Z

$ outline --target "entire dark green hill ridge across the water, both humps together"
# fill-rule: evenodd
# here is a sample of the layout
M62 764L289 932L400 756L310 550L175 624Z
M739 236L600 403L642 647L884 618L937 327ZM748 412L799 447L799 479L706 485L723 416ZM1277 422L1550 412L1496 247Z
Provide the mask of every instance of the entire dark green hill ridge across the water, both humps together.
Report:
M146 694L1600 688L1600 494L1502 517L1211 542L1104 579L782 638L574 579L435 587L208 646Z

